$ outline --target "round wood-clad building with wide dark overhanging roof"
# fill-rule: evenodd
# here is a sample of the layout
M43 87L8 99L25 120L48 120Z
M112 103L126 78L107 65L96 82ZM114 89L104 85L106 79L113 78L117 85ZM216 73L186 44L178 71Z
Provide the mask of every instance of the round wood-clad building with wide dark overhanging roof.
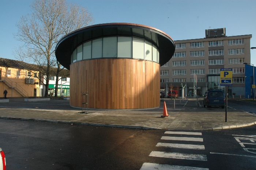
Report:
M161 30L132 23L84 27L58 42L56 58L70 70L70 105L141 109L159 107L160 66L173 56L173 39Z

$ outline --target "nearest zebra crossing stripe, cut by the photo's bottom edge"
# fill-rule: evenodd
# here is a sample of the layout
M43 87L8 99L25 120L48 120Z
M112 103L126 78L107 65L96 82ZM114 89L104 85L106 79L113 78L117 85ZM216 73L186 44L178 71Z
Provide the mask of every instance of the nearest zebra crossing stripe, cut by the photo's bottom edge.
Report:
M190 166L176 166L163 165L157 163L143 163L140 170L209 170L208 168L190 167Z

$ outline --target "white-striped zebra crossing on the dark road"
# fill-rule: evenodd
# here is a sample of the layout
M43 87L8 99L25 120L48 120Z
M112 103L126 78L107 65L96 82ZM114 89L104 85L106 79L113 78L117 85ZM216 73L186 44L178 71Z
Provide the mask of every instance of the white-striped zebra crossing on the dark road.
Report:
M162 136L161 140L170 141L173 143L157 143L156 147L175 148L176 150L177 149L205 150L205 147L204 145L202 145L202 143L188 144L189 142L196 142L196 143L203 142L203 138L200 137L202 136L202 133L200 132L166 131L164 134L165 136ZM177 135L182 135L182 137L177 137ZM184 135L186 135L186 137L183 137ZM187 137L189 135L197 135L199 137ZM175 141L177 143L175 143ZM158 158L179 159L179 160L185 159L185 160L195 160L195 161L207 161L206 155L187 154L187 153L180 153L180 152L151 151L151 153L148 156L153 156ZM156 169L157 170L209 170L208 168L202 168L202 167L164 165L164 164L148 163L148 162L143 163L140 170L156 170Z

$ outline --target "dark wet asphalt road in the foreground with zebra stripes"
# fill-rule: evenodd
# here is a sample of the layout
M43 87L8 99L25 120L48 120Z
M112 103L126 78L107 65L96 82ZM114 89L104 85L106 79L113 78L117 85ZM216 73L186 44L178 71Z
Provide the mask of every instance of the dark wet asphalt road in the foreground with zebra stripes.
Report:
M256 167L256 125L223 131L144 131L18 120L0 124L8 170Z

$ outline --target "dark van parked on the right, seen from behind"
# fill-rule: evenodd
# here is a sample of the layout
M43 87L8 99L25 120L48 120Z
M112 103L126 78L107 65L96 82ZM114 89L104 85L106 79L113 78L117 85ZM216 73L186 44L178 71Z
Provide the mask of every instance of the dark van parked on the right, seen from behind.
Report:
M225 107L225 96L222 90L208 90L204 94L204 107L220 106Z

